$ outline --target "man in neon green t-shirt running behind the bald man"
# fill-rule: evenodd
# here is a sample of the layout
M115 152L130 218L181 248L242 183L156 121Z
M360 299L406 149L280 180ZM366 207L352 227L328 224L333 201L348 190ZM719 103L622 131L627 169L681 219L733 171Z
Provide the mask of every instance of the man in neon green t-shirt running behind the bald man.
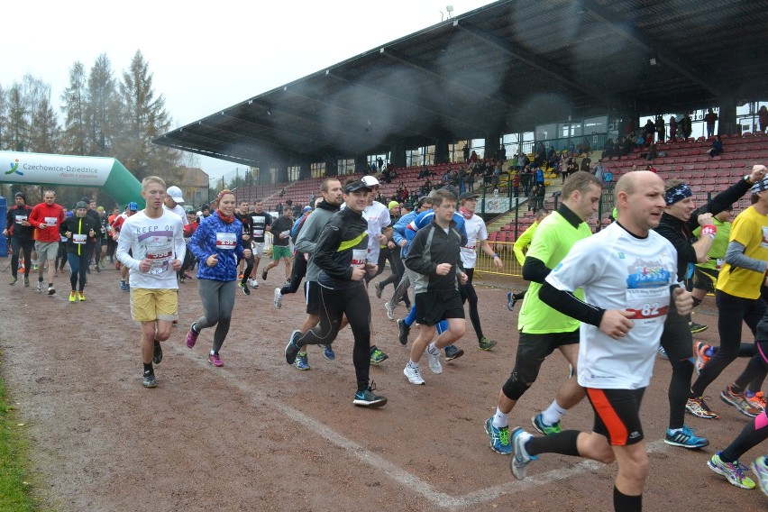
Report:
M580 323L544 304L539 298L539 290L546 276L565 258L573 244L592 234L585 221L597 212L601 191L602 183L589 172L577 171L568 177L562 185L561 206L538 225L526 254L523 278L530 280L531 286L517 320L520 339L515 368L498 392L496 414L489 417L485 425L490 447L497 453L511 453L507 427L509 413L534 383L544 358L560 349L572 369L576 369ZM574 295L583 297L581 289ZM584 390L571 375L558 390L552 404L532 418L536 430L546 435L559 433L560 418L582 398Z

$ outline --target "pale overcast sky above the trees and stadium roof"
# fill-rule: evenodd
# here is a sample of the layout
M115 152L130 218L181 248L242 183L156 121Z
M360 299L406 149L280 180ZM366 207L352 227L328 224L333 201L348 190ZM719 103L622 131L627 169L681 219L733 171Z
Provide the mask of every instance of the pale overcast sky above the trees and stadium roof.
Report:
M10 87L30 73L50 84L59 105L76 60L89 71L105 53L119 79L141 50L176 128L440 23L449 4L456 16L490 2L9 2L0 84ZM238 164L201 158L200 166L217 178Z

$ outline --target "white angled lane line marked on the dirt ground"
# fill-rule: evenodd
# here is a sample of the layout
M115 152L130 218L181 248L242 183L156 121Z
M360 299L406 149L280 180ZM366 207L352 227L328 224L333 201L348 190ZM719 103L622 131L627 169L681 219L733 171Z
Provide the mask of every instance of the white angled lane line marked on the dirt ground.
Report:
M188 349L182 350L177 347L175 352L178 355L183 355L191 361L197 362L200 366L208 371L215 371L217 375L224 376L224 382L233 385L235 388L242 391L244 395L250 396L251 401L258 404L273 408L280 413L287 416L289 419L297 422L300 425L312 425L312 433L325 438L329 443L333 443L339 448L342 448L345 452L351 454L361 462L368 464L376 471L383 471L384 476L391 480L395 480L407 489L411 489L416 494L421 495L426 500L430 501L434 505L443 508L456 509L471 507L486 503L493 499L500 498L507 494L515 494L520 491L535 489L538 487L549 485L558 480L565 480L571 477L579 476L588 472L599 471L604 467L604 464L594 461L582 461L574 464L571 467L558 468L557 470L547 471L540 475L535 475L526 478L526 480L515 480L512 473L509 473L510 481L497 486L489 487L487 489L480 489L463 496L451 496L433 485L421 480L413 473L403 470L399 466L389 462L388 460L380 457L376 453L372 453L365 447L352 440L344 437L342 434L337 433L328 425L325 425L318 421L316 418L306 416L301 411L288 407L285 404L279 403L277 400L268 398L266 394L261 392L260 389L251 386L244 382L238 376L231 371L224 369L213 369L209 366L207 359L200 359L197 352L190 352ZM647 444L648 453L661 452L666 444L663 440L654 441ZM499 462L504 461L504 466L508 466L509 457L502 457L498 455ZM535 465L533 466L535 468Z

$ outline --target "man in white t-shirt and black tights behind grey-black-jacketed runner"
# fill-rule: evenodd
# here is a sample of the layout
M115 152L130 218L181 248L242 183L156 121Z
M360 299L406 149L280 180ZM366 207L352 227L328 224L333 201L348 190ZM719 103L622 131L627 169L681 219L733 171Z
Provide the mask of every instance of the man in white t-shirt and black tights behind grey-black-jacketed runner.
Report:
M459 287L459 292L462 294L462 302L467 300L470 302L470 320L472 327L475 329L475 334L478 335L478 348L483 351L489 351L496 342L489 340L482 333L480 313L478 312L478 294L475 293L475 287L472 286L472 277L474 276L475 265L478 260L477 250L480 249L480 251L490 256L498 271L504 268L504 263L498 254L490 248L485 221L479 215L475 215L478 197L480 197L480 194L474 192L464 192L459 197L459 214L464 217L464 228L467 230L467 244L460 251L464 272L467 274L467 282Z

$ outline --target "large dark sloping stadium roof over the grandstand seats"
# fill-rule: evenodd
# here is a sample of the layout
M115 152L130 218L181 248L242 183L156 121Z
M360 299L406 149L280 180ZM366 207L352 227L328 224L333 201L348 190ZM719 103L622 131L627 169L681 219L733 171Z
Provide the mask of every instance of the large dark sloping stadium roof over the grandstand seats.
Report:
M258 167L768 96L768 0L502 0L154 142Z

